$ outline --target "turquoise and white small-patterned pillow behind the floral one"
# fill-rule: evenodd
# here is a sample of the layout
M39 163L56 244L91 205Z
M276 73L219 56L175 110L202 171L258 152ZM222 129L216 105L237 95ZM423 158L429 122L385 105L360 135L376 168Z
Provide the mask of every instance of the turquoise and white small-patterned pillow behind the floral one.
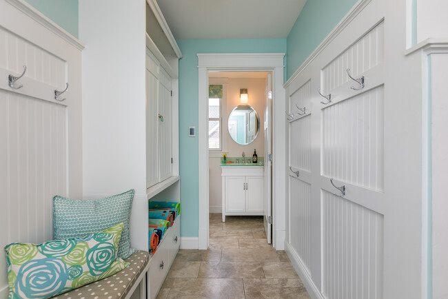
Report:
M136 253L131 248L129 218L134 190L97 200L73 200L59 195L53 197L54 238L83 237L117 223L123 223L119 257L128 258Z

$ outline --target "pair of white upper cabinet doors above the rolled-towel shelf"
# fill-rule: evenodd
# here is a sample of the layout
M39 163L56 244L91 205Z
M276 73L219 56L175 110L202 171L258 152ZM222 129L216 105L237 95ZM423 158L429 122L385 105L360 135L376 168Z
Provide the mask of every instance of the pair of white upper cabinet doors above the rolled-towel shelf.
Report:
M146 187L172 176L172 78L146 48Z

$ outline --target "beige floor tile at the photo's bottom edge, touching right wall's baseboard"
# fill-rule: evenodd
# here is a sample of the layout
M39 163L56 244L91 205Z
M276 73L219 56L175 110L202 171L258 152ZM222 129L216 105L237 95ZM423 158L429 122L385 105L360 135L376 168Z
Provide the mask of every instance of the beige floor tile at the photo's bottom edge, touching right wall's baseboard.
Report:
M300 279L254 279L244 278L247 299L310 299Z

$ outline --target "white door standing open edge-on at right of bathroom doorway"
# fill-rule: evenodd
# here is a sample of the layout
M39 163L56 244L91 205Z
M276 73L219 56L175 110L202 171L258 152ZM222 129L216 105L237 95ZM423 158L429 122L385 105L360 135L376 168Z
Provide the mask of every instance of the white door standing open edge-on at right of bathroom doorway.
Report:
M265 182L263 184L263 223L267 236L267 243L272 242L272 74L267 74L265 90Z

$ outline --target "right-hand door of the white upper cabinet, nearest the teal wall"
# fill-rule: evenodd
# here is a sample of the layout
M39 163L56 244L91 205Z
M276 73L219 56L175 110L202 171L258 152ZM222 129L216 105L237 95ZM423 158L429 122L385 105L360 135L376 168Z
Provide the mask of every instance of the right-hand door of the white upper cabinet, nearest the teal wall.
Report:
M159 82L159 169L160 181L172 175L171 170L171 79L160 68Z

